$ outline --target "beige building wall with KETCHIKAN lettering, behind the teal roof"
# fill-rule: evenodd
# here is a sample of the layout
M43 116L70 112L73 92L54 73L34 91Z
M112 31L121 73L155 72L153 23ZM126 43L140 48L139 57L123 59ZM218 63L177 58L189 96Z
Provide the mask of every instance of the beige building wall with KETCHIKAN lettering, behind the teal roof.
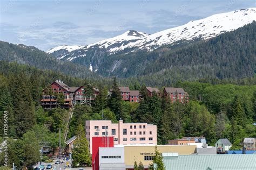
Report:
M163 152L176 152L179 155L189 155L197 152L197 146L186 146L186 145L158 145L157 149ZM145 167L152 163L152 160L144 160L145 156L154 155L154 145L151 146L124 146L124 158L125 165L127 168L132 168L134 161L137 163L142 161Z

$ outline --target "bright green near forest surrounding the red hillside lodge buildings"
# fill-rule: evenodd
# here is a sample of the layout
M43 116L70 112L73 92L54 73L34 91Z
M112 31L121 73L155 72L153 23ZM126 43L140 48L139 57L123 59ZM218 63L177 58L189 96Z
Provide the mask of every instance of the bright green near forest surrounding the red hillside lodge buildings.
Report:
M144 98L139 103L130 103L122 101L116 80L92 80L89 83L57 72L1 61L0 116L2 119L3 112L8 111L8 136L18 139L9 140L8 158L18 167L31 166L39 161L39 149L44 144L53 150L58 146L58 130L64 131L68 111L60 108L43 110L39 105L42 89L56 79L62 79L70 86L84 84L87 90L94 84L101 92L92 107L75 106L68 138L77 134L78 126L83 126L88 119L117 122L120 118L124 122L156 124L159 144L182 136L205 136L210 145L219 138L228 138L233 148L240 149L244 137L256 137L256 127L252 125L256 121L255 85L178 81L174 86L184 88L190 95L190 102L172 104L163 94L147 96L144 84L129 82L130 88L139 89ZM110 83L111 86L107 86ZM112 97L107 97L110 87ZM3 127L3 120L0 126Z

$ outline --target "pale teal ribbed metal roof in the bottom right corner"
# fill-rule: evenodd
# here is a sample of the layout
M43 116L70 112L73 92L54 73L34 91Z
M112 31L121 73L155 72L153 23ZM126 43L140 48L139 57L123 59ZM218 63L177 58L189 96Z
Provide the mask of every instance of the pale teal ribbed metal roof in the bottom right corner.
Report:
M167 170L184 169L256 169L254 154L179 155L177 159L163 158Z

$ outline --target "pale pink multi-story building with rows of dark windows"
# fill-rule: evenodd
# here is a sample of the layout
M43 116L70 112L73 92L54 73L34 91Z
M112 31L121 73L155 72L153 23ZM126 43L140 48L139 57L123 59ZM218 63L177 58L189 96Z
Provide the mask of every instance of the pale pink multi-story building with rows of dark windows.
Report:
M92 137L114 137L114 144L157 144L157 126L147 123L86 121L85 135L92 151Z

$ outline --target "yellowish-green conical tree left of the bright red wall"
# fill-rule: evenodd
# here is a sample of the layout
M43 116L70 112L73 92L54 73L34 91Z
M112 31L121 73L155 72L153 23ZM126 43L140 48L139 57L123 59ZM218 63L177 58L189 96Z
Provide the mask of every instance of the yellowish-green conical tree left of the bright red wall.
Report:
M90 157L89 144L85 137L84 128L82 125L79 125L77 130L77 139L72 151L73 165L90 166Z

